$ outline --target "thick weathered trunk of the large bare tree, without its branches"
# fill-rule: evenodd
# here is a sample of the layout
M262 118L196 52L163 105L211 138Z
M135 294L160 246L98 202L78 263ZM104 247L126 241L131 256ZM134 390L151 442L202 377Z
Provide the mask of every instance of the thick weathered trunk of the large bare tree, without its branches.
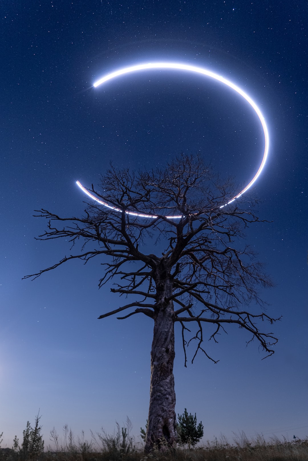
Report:
M173 302L164 302L171 296L172 282L164 280L161 302L156 303L153 343L151 350L151 386L148 411L148 429L144 450L149 453L154 446L163 450L173 448L177 441L174 360L174 310ZM159 287L156 284L156 288Z

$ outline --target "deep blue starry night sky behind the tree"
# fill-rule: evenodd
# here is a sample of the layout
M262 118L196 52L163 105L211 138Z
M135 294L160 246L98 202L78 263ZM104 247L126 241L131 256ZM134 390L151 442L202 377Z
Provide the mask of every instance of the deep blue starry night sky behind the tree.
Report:
M262 293L279 339L275 354L229 328L184 368L176 325L176 413L204 425L203 440L233 432L308 434L308 99L304 1L2 0L0 432L12 446L40 408L44 438L65 423L80 434L113 431L148 416L153 321L97 317L121 305L98 290L100 260L70 261L22 280L69 253L65 241L34 239L45 208L80 216L76 186L113 165L164 166L200 151L239 187L263 154L260 121L221 83L184 71L143 71L97 89L108 72L150 61L205 67L243 88L267 121L270 151L249 191L260 200L247 242L275 288ZM194 350L188 349L190 361ZM21 441L21 440L20 440Z

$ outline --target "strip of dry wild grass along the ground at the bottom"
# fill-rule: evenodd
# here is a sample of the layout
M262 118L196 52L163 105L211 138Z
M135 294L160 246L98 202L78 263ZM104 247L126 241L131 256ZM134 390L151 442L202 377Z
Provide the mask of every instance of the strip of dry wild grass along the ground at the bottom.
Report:
M136 448L134 437L130 436L131 423L124 428L117 425L112 435L105 431L92 434L91 442L85 441L83 433L77 437L64 426L64 440L59 442L53 429L50 438L53 446L36 455L23 455L22 450L0 449L0 461L308 461L308 437L291 442L272 437L266 441L263 436L249 440L245 433L234 437L232 444L225 437L209 442L195 449L179 447L174 451L154 450L145 455L142 448Z

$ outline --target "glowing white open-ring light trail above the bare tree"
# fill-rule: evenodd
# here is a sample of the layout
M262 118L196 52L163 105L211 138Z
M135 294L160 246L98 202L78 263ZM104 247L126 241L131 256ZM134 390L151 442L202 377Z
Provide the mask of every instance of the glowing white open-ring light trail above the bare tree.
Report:
M108 80L112 80L115 77L118 77L120 75L128 74L131 72L136 72L136 71L144 71L148 69L176 69L180 71L190 71L190 72L195 72L198 74L203 74L206 75L207 77L211 77L214 80L218 80L221 83L224 83L226 86L230 87L234 91L236 91L239 95L243 96L243 98L250 104L250 106L254 109L255 113L257 114L264 133L264 153L261 161L261 165L258 168L258 171L255 173L255 176L251 179L251 181L247 184L247 186L244 187L241 192L239 192L237 195L235 195L230 201L225 203L225 205L221 205L219 208L226 207L233 201L235 201L237 198L239 198L241 195L244 194L250 187L255 183L255 181L258 179L258 177L261 174L261 171L263 170L266 161L267 161L267 155L268 155L268 148L269 148L269 136L268 136L268 130L267 130L267 125L265 123L264 117L262 115L261 110L259 107L256 105L255 101L253 101L247 93L245 93L241 88L239 88L237 85L234 83L230 82L230 80L227 80L225 77L222 77L221 75L215 74L212 71L209 71L208 69L203 69L202 67L196 67L194 65L188 65L188 64L182 64L182 63L174 63L174 62L153 62L153 63L147 63L147 64L138 64L138 65L132 65L130 67L124 67L123 69L119 69L118 71L112 72L111 74L107 74L104 77L101 77L99 80L97 80L93 86L96 88L102 83L107 82ZM85 194L87 194L89 197L91 197L93 200L97 201L101 205L104 205L107 208L111 208L115 211L121 211L117 207L113 207L108 205L108 203L99 200L95 195L92 195L89 193L87 189L83 187L83 185L77 181L77 185L83 190ZM152 214L144 214L144 213L135 213L131 211L126 211L125 213L130 214L132 216L139 216L141 218L157 218L156 215ZM165 218L168 219L179 219L182 218L182 215L179 216L165 216Z

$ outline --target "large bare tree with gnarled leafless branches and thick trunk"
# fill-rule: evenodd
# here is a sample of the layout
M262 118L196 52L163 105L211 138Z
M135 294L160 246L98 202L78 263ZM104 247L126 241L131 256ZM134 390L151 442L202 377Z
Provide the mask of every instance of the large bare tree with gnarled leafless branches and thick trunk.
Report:
M234 188L231 182L220 184L198 155L180 155L165 169L149 172L111 166L102 177L101 192L93 185L89 192L108 207L92 201L82 218L60 218L44 209L36 215L48 219L39 240L65 237L74 253L27 277L36 278L73 259L85 263L95 256L104 259L99 287L113 279L113 293L134 298L99 319L128 310L118 319L142 313L154 320L145 451L166 442L173 447L175 322L182 327L185 366L186 346L192 340L196 341L192 361L201 351L216 363L203 346L203 326L209 324L213 329L207 339L217 342L220 331L233 324L248 331L248 343L257 340L266 356L274 352L277 338L260 331L257 323L277 319L264 310L249 310L252 301L262 307L258 289L272 283L248 246L236 248L243 245L244 228L258 219L243 201L241 207L239 200L221 207L230 201ZM153 242L158 255L146 253ZM186 337L192 324L195 333Z

